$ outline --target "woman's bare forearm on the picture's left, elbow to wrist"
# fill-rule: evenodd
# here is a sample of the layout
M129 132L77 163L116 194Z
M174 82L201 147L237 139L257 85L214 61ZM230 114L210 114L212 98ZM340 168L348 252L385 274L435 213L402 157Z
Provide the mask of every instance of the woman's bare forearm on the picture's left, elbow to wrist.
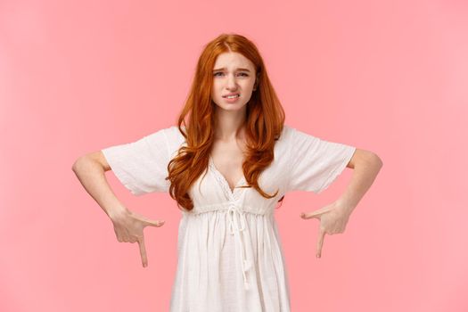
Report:
M86 156L79 158L72 167L73 172L78 177L79 182L86 189L86 192L93 197L103 211L110 217L114 217L126 210L112 192L111 186L105 177L103 166Z

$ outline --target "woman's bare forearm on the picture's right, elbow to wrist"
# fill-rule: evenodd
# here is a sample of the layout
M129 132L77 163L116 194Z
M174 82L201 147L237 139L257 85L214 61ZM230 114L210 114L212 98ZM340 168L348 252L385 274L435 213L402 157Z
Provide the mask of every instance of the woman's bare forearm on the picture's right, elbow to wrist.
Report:
M374 153L357 160L349 185L337 200L342 209L350 214L356 208L357 203L374 183L382 165L382 160Z

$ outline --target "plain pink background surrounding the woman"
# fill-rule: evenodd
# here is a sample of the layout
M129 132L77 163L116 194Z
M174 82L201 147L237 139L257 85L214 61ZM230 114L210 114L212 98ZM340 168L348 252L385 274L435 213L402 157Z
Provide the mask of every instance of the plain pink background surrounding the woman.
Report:
M168 310L176 202L106 175L130 209L166 220L145 230L144 268L71 165L175 124L202 45L222 32L258 45L287 124L384 162L322 259L318 221L300 212L336 199L352 170L276 211L292 310L467 311L461 0L2 1L0 310Z

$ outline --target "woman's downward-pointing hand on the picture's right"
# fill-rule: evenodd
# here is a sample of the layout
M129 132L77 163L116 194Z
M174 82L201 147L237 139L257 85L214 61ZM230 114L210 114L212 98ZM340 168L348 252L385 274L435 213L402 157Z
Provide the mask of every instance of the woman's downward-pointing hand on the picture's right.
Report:
M316 243L316 258L322 256L322 246L324 245L325 234L343 233L349 220L349 209L343 209L336 202L316 209L312 212L300 214L300 218L316 218L320 220L318 227L318 241Z

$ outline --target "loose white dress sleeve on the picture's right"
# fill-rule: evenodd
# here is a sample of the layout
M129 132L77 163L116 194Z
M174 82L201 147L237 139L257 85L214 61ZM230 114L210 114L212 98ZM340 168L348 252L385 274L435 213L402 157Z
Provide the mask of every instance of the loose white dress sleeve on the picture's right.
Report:
M288 191L322 193L349 163L355 146L325 141L290 128Z

